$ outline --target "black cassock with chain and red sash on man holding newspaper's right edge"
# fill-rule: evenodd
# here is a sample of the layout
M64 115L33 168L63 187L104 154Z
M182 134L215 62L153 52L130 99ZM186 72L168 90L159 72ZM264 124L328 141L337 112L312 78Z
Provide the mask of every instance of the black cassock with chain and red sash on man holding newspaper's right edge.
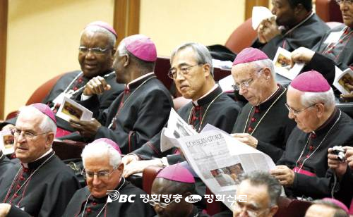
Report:
M335 109L330 118L315 132L306 133L294 128L287 147L277 165L297 168L287 196L330 197L333 175L328 168L328 148L335 145L353 146L353 120ZM300 169L300 171L299 171Z

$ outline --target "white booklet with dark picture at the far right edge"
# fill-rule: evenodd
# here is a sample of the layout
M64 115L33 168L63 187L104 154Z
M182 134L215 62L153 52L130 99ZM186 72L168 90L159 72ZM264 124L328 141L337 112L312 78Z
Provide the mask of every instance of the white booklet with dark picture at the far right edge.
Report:
M335 80L333 81L333 86L342 94L350 94L353 91L353 70L347 68L342 71L335 66Z

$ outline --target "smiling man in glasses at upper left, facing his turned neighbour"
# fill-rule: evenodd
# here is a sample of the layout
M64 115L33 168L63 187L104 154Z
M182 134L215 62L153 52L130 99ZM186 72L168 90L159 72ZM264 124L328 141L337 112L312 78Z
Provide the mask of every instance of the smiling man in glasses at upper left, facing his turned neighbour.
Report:
M111 88L98 96L98 110L103 111L107 109L112 104L112 101L124 90L124 85L116 82L116 76L112 69L115 42L116 32L107 23L100 21L89 23L80 35L78 52L80 70L61 76L49 94L47 94L47 97L42 99L42 103L50 106L56 113L64 96L79 100L83 93L83 87L85 87L88 81L92 77L101 76L105 77ZM88 47L90 46L94 50L88 51ZM101 51L100 48L104 48L105 50ZM97 112L95 112L95 115L97 115ZM56 137L68 135L70 132L75 131L66 120L59 117L56 117L56 119L58 125ZM15 125L16 118L6 120L2 125L8 123Z

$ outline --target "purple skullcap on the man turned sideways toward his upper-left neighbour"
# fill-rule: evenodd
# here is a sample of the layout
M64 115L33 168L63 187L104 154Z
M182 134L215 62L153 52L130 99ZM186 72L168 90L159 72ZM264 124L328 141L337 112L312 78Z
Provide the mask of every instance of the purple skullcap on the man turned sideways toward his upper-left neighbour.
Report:
M157 60L155 43L145 35L131 35L124 39L126 49L137 58L154 62Z

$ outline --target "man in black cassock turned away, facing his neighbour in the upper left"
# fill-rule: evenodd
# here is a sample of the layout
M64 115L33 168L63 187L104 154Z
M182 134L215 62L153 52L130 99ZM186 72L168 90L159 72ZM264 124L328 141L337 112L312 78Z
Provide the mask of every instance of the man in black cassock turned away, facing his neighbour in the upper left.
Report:
M108 109L99 111L97 96L109 87L104 78L92 79L78 102L97 113L97 120L71 120L71 127L80 134L61 138L85 142L109 138L119 144L123 154L127 154L162 130L172 108L172 99L153 73L156 60L155 44L150 38L133 35L122 40L113 68L117 82L126 84L124 93Z

